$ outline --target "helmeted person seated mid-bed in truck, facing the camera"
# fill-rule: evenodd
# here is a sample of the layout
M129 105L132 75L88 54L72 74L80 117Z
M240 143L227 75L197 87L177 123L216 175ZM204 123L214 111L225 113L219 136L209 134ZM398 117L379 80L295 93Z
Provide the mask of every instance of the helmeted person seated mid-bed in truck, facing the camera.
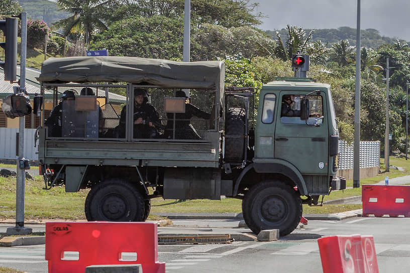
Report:
M123 107L120 116L119 137L125 138L127 105ZM157 125L155 125L157 124ZM154 106L148 103L147 91L143 88L134 89L134 139L154 139L159 137L158 126L161 120Z

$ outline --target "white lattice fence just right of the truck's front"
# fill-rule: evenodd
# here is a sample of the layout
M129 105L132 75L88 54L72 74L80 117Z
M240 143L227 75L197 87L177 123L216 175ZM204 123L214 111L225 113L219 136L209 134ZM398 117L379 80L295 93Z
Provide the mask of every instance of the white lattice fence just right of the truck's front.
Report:
M360 168L380 166L380 142L360 142ZM339 141L339 170L353 169L353 144Z

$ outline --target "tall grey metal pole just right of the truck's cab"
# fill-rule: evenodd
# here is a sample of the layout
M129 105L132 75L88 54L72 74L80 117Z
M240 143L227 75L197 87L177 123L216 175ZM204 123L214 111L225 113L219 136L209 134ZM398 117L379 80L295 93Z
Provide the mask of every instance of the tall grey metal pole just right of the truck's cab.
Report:
M357 0L353 188L360 187L360 0Z

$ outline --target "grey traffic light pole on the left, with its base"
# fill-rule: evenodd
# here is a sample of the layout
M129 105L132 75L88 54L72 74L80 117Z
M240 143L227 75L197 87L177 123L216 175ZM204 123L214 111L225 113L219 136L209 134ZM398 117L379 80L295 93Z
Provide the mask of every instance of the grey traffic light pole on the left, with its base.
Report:
M27 54L27 13L21 15L21 63L20 63L20 87L18 93L26 89L26 54ZM24 159L24 127L25 116L19 118L19 160L17 160L17 185L16 185L16 226L7 229L8 235L31 234L33 230L24 226L24 189L26 170L20 168L20 160Z

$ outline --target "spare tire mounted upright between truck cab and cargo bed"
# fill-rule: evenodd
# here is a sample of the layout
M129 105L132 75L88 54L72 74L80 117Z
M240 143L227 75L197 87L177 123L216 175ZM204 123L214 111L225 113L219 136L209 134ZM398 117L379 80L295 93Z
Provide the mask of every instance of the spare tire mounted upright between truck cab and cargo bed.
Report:
M229 108L225 120L225 162L242 162L245 148L245 110Z

